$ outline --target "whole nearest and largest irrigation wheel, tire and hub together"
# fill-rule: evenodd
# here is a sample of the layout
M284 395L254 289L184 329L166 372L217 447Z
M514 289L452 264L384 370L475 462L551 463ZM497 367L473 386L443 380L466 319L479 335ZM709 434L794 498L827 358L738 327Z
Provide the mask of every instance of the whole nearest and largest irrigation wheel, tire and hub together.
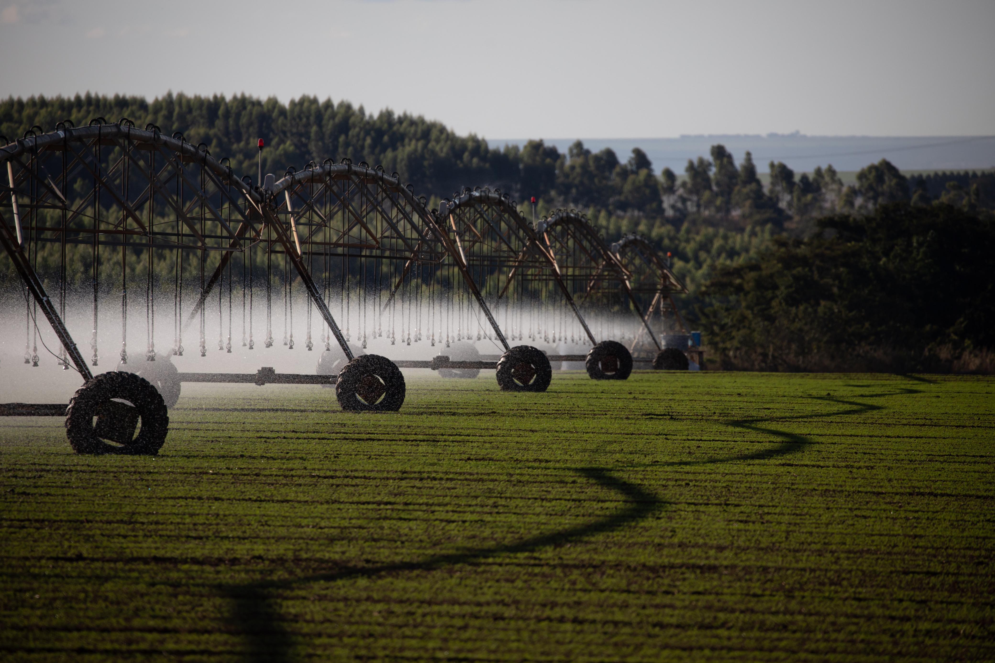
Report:
M123 371L101 373L88 381L66 411L66 436L77 453L155 455L168 429L169 414L158 390Z

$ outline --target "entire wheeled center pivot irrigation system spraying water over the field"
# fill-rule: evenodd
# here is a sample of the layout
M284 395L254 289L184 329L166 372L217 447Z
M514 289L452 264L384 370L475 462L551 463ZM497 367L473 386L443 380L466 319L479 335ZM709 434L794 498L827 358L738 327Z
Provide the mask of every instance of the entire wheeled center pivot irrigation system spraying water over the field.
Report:
M84 380L68 409L9 404L0 413L66 414L67 435L81 453L156 453L183 382L333 386L343 410L377 412L404 403L401 368L456 377L496 370L505 391L545 391L551 361L584 362L594 379L625 380L632 350L663 350L661 324L667 310L676 315L671 294L685 291L645 241L626 238L609 248L575 211L529 222L498 190L464 189L431 210L397 173L348 159L310 162L253 185L206 144L127 119L97 118L86 127L67 120L48 133L36 126L14 142L0 136L0 144L7 180L0 187L0 243L24 283L25 362L39 364L40 311L60 344L49 351ZM55 252L58 274L48 282L58 291L50 294L39 256L51 267ZM81 299L70 279L71 265L81 262L91 272L85 289L95 367L100 313L116 308L108 298L119 297L118 370L97 376L65 322L68 300ZM106 282L107 273L115 282ZM136 280L146 344L129 354L128 297ZM323 346L316 375L272 368L179 373L172 365L170 356L190 351L184 336L196 338L194 351L206 356L215 301L219 352L232 352L236 309L243 347L260 342L254 331L261 318L262 343L277 343L273 313L281 302L290 307L283 344L293 349L294 290L301 287L304 345ZM163 324L171 325L171 350L156 349L156 324L160 335ZM630 347L609 338L627 329ZM500 349L497 358L480 355L473 343L482 338ZM547 355L525 344L568 338L590 350ZM431 361L364 354L374 341L427 341L439 354Z

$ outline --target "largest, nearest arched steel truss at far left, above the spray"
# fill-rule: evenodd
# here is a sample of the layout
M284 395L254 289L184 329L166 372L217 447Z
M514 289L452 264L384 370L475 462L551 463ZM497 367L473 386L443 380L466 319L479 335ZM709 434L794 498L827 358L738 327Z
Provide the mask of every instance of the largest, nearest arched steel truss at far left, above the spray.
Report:
M123 122L64 126L0 147L0 168L7 170L9 183L0 194L0 205L67 212L65 228L40 230L51 235L65 232L71 243L95 232L80 222L99 222L101 246L147 248L151 240L153 248L233 250L226 244L238 240L233 221L250 225L262 221L259 197L203 143L195 146L182 136L168 137L157 129L137 129ZM70 189L81 179L94 183L86 195ZM139 209L150 201L153 215L174 215L169 229L156 231L152 226L161 228L161 220L153 218L150 226L142 218L145 210L139 213ZM95 219L102 207L119 210L120 217ZM195 208L200 207L203 219L195 220ZM225 212L233 212L235 218L226 218ZM14 215L15 224L20 216ZM198 229L195 221L204 221L205 230Z

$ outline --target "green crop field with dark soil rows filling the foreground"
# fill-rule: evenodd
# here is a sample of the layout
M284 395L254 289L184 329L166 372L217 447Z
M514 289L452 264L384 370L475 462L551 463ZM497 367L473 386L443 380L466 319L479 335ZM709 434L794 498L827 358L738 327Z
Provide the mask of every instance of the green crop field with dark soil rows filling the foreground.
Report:
M0 658L995 659L991 378L184 389L155 458L0 420Z

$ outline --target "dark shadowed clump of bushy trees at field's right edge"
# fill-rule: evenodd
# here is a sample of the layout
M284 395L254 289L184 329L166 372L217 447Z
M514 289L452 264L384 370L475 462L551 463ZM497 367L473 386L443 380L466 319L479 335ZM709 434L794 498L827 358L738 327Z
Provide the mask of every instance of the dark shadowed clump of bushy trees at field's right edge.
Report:
M707 283L702 321L727 365L911 370L942 346L995 347L991 215L892 204L819 227Z

